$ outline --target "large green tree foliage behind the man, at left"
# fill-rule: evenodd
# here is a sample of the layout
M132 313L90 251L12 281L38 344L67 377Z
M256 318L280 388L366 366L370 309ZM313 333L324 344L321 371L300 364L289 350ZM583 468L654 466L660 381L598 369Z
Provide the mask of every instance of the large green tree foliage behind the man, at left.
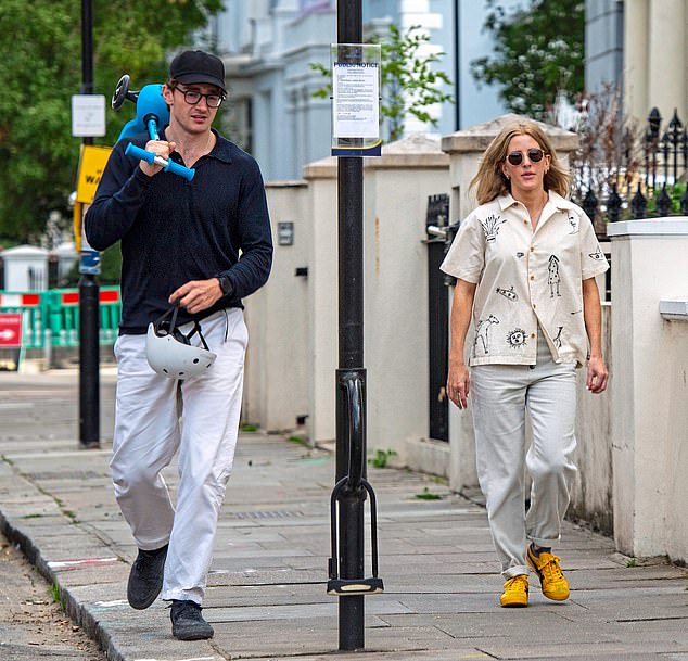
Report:
M93 93L110 100L124 73L133 89L164 81L167 53L221 9L221 0L93 0ZM79 0L2 0L0 40L0 234L36 241L48 214L71 217L79 138L72 136L71 98L81 92ZM11 26L11 31L10 31ZM125 106L127 109L127 106ZM107 112L113 144L133 105Z

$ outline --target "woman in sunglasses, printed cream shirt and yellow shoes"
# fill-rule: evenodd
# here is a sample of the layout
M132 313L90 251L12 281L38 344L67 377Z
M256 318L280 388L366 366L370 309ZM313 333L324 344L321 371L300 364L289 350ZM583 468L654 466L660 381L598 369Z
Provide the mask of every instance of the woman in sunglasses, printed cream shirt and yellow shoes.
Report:
M527 606L528 565L543 594L561 601L569 584L552 546L576 471L575 369L587 365L590 392L607 387L595 276L609 266L589 218L564 199L568 176L535 123L512 124L493 140L473 187L480 206L442 265L457 278L447 394L460 409L469 393L473 403L477 476L506 580L501 606Z

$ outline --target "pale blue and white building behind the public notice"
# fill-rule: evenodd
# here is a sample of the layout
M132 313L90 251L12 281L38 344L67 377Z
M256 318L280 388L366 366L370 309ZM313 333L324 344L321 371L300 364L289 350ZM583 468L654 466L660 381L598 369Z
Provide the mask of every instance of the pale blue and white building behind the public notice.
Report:
M508 9L525 0L505 0ZM482 0L366 0L364 33L384 34L390 23L403 30L421 25L429 48L443 51L442 69L455 84L444 91L457 103L433 107L437 127L413 118L406 134L447 134L504 112L494 87L477 88L470 62L489 53L482 31ZM226 134L250 151L268 180L297 179L303 167L330 153L330 101L313 92L323 77L309 64L329 65L336 41L335 0L226 0L207 38L224 58L230 85ZM458 46L458 48L457 48Z

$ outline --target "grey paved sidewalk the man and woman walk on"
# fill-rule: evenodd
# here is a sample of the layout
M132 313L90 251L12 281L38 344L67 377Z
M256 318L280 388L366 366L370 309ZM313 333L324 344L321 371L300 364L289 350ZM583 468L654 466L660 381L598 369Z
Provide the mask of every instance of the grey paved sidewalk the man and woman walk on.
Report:
M326 594L333 457L245 433L222 507L204 614L209 641L180 643L166 605L126 602L136 557L109 479L114 371L101 376L103 449L79 450L78 373L0 372L0 525L60 586L72 616L116 661L324 661L337 650ZM688 661L686 569L633 561L568 523L572 596L501 609L485 511L432 478L369 469L379 498L380 574L366 598L366 651L347 659ZM167 480L175 484L174 468ZM441 499L421 499L434 494ZM2 657L0 641L0 658Z

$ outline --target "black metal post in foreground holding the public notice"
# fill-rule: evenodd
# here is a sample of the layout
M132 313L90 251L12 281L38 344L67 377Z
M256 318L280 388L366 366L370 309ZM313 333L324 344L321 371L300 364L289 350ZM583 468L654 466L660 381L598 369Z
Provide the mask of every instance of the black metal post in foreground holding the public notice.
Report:
M361 0L339 0L336 5L337 42L362 41ZM339 366L336 405L336 480L348 472L348 416L352 402L344 398L340 379L355 372L365 379L364 366L364 165L360 157L340 156L337 167L339 218ZM365 393L365 383L362 387ZM365 394L364 402L365 421ZM365 422L364 422L365 425ZM362 431L362 430L361 430ZM353 443L362 444L362 437ZM364 577L364 500L365 491L349 490L340 499L340 568L342 579ZM365 597L340 597L340 650L365 646Z

